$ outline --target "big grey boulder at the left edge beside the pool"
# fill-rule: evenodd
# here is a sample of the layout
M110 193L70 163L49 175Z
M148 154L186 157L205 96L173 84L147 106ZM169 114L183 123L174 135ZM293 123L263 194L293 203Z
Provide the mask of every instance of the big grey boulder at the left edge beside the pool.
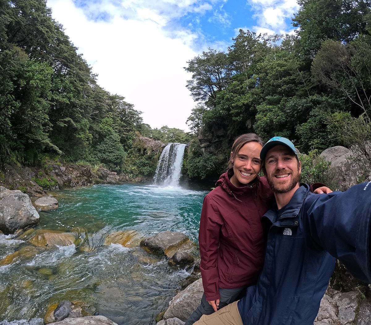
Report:
M40 216L27 194L0 186L0 230L5 234L37 224Z

